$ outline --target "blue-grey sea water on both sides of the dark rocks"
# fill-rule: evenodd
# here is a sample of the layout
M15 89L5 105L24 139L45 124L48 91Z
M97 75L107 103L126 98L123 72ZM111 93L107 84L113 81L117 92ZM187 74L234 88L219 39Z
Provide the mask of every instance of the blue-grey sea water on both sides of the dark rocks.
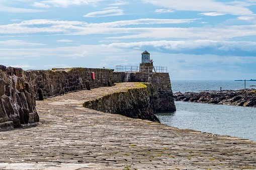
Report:
M256 81L246 81L253 89ZM173 80L173 92L200 92L244 89L244 81ZM177 111L157 113L161 123L180 129L193 129L256 141L256 108L205 103L175 102Z

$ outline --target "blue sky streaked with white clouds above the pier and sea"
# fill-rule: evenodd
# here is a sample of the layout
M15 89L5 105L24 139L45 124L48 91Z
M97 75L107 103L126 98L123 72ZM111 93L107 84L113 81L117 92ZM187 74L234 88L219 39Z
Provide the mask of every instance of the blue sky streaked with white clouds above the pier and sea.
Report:
M172 80L256 79L256 0L0 0L0 65L139 66Z

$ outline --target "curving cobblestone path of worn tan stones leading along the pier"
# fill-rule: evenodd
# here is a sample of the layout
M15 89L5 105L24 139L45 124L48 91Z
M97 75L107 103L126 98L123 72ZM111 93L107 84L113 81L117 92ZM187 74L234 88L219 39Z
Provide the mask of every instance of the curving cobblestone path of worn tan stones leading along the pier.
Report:
M256 143L82 107L117 84L37 101L37 127L0 132L0 169L256 169Z

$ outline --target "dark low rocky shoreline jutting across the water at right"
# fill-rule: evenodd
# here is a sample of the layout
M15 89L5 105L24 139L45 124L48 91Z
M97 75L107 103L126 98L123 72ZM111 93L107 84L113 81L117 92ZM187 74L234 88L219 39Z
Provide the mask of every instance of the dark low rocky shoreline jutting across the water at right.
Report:
M177 92L175 101L224 104L233 106L256 107L256 89L202 91L202 92Z

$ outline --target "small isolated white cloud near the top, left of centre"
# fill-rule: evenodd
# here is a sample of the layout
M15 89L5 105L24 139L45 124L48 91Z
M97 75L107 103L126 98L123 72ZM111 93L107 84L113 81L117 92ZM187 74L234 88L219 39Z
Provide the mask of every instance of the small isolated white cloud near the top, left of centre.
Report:
M115 8L115 9L107 9L105 11L88 13L83 17L109 17L109 16L122 16L122 15L124 15L123 10Z

